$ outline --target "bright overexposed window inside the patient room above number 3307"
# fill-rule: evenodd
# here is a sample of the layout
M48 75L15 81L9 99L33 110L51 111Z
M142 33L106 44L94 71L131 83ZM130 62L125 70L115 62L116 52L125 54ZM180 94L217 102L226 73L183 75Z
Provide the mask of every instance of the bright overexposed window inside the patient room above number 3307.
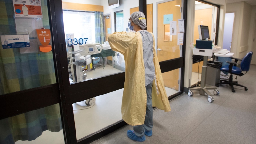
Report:
M88 38L86 43L95 43L95 14L84 11L63 11L63 22L66 34Z

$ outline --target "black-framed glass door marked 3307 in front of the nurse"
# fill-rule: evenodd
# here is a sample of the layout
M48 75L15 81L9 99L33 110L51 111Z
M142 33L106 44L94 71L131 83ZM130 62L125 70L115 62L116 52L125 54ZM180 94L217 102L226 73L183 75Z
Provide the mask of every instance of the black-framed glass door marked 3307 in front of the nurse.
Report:
M56 0L54 4L57 26L63 26L57 27L57 45L66 95L65 131L70 143L90 142L126 124L121 117L124 56L112 51L107 37L115 29L126 31L130 15L122 11L129 8L103 7L108 1L92 5Z

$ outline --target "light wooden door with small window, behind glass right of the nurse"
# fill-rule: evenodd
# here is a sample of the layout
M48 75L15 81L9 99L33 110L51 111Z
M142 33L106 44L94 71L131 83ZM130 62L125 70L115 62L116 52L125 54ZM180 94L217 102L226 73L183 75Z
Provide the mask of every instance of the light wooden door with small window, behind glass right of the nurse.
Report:
M173 14L173 21L181 19L181 0L174 0L157 5L157 57L159 62L180 57L177 35L170 36L170 24L164 24L164 15ZM163 73L165 87L179 90L180 69Z

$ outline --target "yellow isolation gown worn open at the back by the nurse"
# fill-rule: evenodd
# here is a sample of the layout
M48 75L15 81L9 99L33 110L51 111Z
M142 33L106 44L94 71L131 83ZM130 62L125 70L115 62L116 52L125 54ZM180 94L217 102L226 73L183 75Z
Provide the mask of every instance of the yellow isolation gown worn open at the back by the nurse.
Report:
M152 33L151 33L152 34ZM153 53L155 79L152 87L152 104L165 112L171 111L166 95L164 81L155 51L153 36ZM145 88L145 71L143 61L142 37L139 32L114 32L108 37L113 51L124 55L125 82L122 99L122 118L132 126L142 125L145 121L147 95Z

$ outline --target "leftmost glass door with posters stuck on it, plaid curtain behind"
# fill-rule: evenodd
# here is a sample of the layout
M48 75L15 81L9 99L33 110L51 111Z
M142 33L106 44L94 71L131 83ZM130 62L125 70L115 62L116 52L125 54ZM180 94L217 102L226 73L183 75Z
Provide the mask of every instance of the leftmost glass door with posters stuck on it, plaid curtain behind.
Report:
M49 1L0 4L0 143L65 143Z

